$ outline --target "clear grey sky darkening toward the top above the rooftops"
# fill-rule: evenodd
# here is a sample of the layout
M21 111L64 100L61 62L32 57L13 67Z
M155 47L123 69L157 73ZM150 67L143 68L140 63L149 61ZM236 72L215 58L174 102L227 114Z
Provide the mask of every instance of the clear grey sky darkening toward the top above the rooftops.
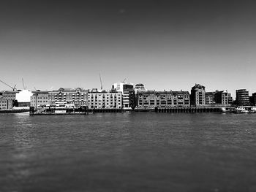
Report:
M0 1L0 80L33 91L143 83L256 92L254 1ZM0 82L0 90L8 90Z

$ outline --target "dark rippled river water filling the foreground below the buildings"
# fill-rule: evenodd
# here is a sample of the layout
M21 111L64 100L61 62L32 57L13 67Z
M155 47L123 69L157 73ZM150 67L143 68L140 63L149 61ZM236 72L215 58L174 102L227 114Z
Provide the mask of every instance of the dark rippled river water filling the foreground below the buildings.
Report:
M0 191L256 191L256 116L0 115Z

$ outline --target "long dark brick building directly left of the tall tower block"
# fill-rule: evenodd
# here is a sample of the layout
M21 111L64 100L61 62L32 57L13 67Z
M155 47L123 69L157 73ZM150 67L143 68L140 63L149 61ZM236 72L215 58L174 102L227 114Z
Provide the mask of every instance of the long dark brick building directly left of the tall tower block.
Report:
M141 91L138 92L138 108L189 107L188 91Z

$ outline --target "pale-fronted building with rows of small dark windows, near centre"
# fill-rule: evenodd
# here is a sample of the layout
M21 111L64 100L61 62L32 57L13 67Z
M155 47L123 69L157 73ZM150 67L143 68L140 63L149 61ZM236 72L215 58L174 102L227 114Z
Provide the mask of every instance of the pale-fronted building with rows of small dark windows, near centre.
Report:
M89 109L121 109L122 93L116 90L97 91L93 89L88 93Z

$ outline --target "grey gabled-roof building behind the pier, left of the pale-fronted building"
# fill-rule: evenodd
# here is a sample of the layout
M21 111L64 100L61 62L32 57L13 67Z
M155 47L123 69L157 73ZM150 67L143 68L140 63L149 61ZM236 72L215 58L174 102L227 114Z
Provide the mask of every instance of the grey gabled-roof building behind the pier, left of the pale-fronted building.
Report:
M87 105L88 92L84 88L59 88L59 90L49 91L49 103L67 102L75 107Z

